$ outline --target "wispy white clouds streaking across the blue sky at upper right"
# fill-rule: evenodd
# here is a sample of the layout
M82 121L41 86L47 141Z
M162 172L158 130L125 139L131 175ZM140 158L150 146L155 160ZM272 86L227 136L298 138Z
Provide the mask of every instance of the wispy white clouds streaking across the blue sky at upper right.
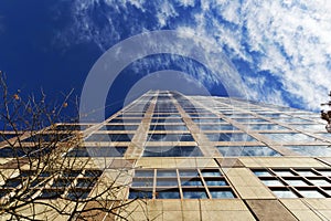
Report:
M207 39L245 63L239 74L254 99L318 109L331 87L328 0L79 0L72 10L73 24L62 36L104 51L164 27Z

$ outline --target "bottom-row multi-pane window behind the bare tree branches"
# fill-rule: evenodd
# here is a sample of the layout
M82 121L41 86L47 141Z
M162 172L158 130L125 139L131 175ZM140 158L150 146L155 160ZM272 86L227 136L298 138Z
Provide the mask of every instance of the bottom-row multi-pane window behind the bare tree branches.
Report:
M66 170L54 177L51 171L36 173L33 170L22 170L17 177L4 181L0 188L0 198L21 189L24 192L20 197L26 199L85 199L102 173L102 170ZM24 186L28 188L23 188Z

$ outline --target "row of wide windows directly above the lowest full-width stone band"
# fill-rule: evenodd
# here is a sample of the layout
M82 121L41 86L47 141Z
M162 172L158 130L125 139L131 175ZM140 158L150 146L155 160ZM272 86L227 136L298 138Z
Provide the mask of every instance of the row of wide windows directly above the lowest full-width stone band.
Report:
M331 156L329 146L284 146L302 156ZM215 146L225 157L236 156L281 156L268 146ZM1 158L15 157L40 157L51 151L51 148L30 147L3 147L0 149ZM75 147L67 152L67 157L122 157L127 146L88 146ZM142 157L202 157L203 154L197 146L146 146Z

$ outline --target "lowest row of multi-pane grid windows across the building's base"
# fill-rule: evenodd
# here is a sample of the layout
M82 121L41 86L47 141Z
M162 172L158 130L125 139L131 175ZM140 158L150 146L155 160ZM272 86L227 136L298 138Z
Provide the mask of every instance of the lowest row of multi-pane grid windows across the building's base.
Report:
M278 198L331 198L331 169L264 168L252 169ZM102 170L67 170L54 177L22 170L7 179L0 198L30 181L24 198L52 199L65 197L85 199L102 176ZM236 198L234 187L220 168L203 169L136 169L129 188L129 199L218 199Z

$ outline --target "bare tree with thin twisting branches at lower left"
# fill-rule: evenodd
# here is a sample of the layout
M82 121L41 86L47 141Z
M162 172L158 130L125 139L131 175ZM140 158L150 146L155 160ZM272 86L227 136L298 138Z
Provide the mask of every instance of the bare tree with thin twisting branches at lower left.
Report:
M1 219L127 220L136 201L126 200L132 165L68 154L83 140L77 120L62 115L71 93L57 105L44 93L23 98L10 93L3 73L0 87Z

